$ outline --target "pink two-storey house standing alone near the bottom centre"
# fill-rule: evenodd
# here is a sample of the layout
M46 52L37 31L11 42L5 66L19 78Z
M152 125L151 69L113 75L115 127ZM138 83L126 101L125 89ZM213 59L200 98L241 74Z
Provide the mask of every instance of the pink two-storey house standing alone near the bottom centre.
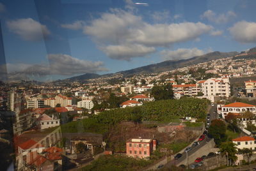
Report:
M126 155L133 158L148 158L156 150L156 140L131 138L126 142Z

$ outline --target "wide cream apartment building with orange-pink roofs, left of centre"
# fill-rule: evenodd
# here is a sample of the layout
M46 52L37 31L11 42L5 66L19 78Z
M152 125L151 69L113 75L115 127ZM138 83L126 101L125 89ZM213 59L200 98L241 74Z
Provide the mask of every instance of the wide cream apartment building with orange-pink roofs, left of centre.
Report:
M44 100L44 105L50 107L56 107L57 104L60 104L61 107L66 107L67 105L72 105L72 98L67 96L58 95L55 98L47 98Z

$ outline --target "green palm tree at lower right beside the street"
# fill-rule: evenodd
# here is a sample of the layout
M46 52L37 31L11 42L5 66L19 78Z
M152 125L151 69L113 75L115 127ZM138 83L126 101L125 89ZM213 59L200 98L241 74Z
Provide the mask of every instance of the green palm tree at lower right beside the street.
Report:
M226 156L227 166L229 165L229 163L234 163L234 161L237 160L237 147L236 144L234 144L233 142L223 142L220 145L220 152L221 156Z

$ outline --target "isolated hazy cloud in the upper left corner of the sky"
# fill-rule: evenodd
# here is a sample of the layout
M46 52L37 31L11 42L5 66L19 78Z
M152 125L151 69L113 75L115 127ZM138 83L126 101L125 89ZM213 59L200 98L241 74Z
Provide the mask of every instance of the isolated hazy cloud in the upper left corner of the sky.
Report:
M7 27L24 40L38 41L49 36L51 32L45 25L40 24L31 18L18 19L7 22Z

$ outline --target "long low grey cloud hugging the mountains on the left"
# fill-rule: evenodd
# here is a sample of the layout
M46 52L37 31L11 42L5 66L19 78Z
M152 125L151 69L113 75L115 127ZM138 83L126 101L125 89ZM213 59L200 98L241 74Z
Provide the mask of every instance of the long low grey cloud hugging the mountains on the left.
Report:
M47 64L7 64L8 73L22 75L45 76L45 75L75 75L79 73L96 73L108 71L101 61L92 62L77 59L66 54L49 54ZM15 68L17 66L17 68Z

